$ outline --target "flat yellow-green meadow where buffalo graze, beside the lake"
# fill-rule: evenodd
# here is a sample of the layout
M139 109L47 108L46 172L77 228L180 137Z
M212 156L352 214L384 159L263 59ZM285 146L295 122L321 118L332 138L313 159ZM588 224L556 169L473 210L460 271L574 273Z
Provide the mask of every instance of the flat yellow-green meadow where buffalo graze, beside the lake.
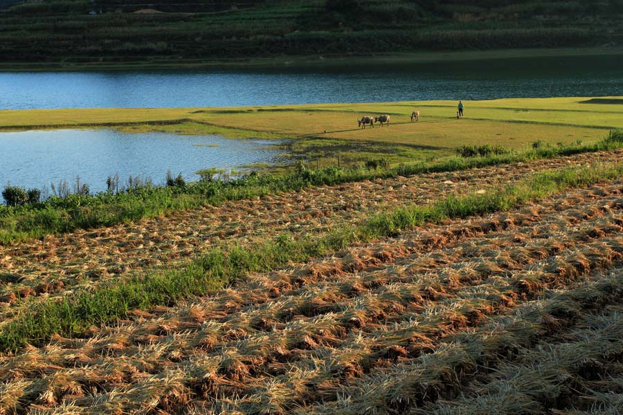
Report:
M333 165L371 157L390 163L447 158L462 145L530 149L532 143L590 143L623 127L622 98L517 98L454 101L311 104L191 109L50 109L0 111L0 129L116 128L129 132L216 133L228 138L287 140L294 158ZM420 111L419 122L410 113ZM361 116L389 114L389 127L360 129ZM209 166L206 166L209 167ZM270 166L269 166L270 167Z

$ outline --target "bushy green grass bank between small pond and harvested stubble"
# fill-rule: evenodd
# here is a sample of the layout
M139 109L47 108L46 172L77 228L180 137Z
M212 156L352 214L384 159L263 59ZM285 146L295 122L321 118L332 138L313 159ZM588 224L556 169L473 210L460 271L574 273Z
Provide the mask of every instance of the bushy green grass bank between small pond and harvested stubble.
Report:
M373 178L411 176L429 172L452 172L475 167L518 163L557 156L623 147L623 131L615 130L593 145L545 147L476 158L451 158L438 163L401 165L392 169L302 169L300 172L273 176L249 176L233 181L191 183L184 187L145 187L120 194L96 196L69 195L46 203L19 207L0 205L0 244L17 243L46 234L75 229L111 226L127 221L169 214L177 210L219 205L224 201L251 199L266 194L289 192L317 185L335 185Z

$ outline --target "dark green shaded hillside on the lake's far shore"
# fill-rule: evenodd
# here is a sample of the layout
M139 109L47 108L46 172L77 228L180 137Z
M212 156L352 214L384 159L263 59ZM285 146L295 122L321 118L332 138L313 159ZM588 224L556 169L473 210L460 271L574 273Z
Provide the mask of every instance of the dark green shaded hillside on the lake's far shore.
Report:
M88 68L613 45L620 44L623 6L620 0L4 0L0 10L4 66Z

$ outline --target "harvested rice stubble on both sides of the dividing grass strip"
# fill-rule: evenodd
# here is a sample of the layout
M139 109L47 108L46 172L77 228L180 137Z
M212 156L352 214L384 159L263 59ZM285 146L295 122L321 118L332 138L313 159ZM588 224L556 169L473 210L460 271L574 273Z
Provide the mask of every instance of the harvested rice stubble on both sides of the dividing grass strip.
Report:
M316 187L0 246L0 332L217 243L302 239L622 156ZM0 414L620 414L622 316L619 177L32 339L0 353Z

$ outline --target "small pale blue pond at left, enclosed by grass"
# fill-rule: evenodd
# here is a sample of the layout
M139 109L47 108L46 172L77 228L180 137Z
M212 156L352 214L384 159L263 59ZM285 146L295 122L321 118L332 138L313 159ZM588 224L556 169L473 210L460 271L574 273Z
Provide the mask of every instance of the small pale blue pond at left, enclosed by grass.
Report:
M0 133L0 188L50 189L80 176L91 192L106 190L116 173L165 183L167 171L198 180L199 169L231 169L251 163L276 163L280 151L267 140L228 140L218 136L176 136L170 133L120 133L100 130L43 130Z

